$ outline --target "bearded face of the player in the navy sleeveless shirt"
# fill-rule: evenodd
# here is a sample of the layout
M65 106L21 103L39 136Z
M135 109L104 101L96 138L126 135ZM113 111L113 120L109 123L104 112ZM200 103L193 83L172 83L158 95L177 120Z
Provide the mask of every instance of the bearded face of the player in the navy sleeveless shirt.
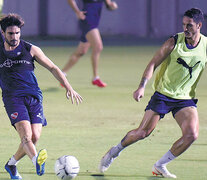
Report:
M9 26L3 32L6 43L11 47L16 47L20 41L20 28L17 26Z

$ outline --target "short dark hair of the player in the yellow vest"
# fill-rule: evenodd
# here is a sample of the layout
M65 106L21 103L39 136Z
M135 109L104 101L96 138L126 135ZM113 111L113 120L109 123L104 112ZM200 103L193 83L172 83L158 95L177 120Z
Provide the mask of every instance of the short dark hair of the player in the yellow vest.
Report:
M184 13L184 16L192 18L197 24L204 21L203 12L198 8L191 8Z

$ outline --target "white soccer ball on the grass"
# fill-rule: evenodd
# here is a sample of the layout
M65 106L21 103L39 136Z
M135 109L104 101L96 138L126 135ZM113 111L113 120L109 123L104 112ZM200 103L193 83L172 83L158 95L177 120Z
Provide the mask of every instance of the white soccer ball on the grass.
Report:
M63 180L75 178L80 170L79 162L74 156L61 156L55 162L55 174Z

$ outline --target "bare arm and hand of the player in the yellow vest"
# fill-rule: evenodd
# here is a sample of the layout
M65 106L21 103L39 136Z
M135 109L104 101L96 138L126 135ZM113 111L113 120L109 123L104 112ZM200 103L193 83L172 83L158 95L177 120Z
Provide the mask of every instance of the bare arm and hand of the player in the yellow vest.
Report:
M136 101L140 101L140 99L144 96L144 90L147 82L152 78L152 75L155 69L169 56L175 46L174 38L169 38L161 48L156 52L152 60L147 65L143 75L141 82L138 86L138 89L134 92L133 97Z

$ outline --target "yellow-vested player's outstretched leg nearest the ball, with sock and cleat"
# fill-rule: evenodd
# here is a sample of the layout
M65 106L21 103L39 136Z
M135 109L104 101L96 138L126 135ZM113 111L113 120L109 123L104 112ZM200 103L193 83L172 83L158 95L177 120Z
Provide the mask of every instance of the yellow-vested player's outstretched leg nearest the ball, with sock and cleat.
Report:
M137 129L129 131L117 146L112 147L104 155L99 165L100 172L106 171L113 162L113 160L120 154L120 152L124 148L149 136L156 127L159 119L159 114L152 110L147 110L139 127Z

